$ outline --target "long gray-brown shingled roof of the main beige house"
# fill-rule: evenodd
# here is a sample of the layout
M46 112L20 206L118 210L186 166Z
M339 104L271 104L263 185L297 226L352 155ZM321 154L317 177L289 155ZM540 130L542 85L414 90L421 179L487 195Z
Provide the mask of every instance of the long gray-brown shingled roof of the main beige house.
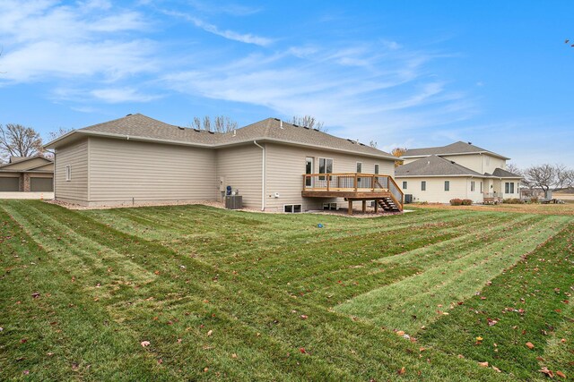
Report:
M188 144L213 149L236 145L253 140L268 140L319 149L337 150L370 157L396 159L391 154L371 148L355 140L345 140L326 132L293 125L276 118L267 118L237 129L234 132L206 132L163 123L145 115L126 115L106 123L98 123L49 142L47 148L57 148L74 134L106 136L110 138L151 140L162 143Z

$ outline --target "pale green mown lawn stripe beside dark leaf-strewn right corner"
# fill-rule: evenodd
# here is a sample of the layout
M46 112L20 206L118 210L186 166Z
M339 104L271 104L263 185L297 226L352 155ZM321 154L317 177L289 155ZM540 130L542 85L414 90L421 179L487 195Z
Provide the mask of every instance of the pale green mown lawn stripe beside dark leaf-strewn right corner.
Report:
M444 312L479 292L483 285L512 266L536 246L551 238L570 220L544 216L514 235L501 238L444 265L361 294L335 308L378 325L415 334Z

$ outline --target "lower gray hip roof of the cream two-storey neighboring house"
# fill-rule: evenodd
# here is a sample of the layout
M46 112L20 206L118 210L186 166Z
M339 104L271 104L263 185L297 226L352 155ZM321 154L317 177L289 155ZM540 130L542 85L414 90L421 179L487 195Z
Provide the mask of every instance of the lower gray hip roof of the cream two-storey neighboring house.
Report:
M395 176L448 176L448 175L468 175L468 176L481 176L470 168L457 165L456 163L431 155L430 157L422 157L414 162L406 165L398 166L395 169Z

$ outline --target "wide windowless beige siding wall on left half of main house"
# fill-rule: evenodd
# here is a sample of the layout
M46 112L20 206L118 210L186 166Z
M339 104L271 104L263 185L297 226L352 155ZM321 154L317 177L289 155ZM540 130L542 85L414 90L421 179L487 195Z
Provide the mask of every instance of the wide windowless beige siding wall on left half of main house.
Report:
M212 149L90 139L90 205L213 200L215 196Z

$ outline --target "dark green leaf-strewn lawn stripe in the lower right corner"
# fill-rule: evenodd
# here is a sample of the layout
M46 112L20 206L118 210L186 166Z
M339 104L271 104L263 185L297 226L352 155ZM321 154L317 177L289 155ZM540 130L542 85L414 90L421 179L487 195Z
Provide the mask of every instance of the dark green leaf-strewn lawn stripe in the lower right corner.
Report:
M450 315L429 326L419 340L454 355L489 361L521 380L547 379L538 371L543 367L561 370L571 378L573 244L574 224L570 223L515 267L493 278L480 296L449 310ZM483 340L477 343L479 336Z

